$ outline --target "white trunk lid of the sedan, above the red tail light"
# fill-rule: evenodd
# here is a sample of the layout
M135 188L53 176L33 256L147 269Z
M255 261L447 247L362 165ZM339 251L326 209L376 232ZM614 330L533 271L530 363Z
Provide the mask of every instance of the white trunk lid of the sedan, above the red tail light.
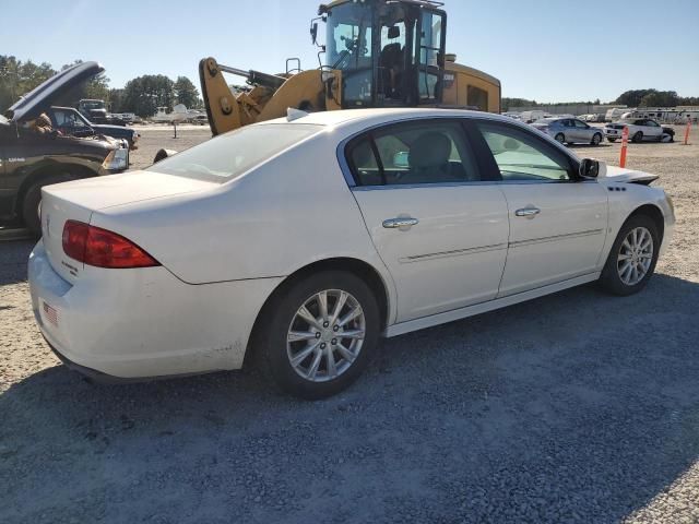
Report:
M51 266L71 284L83 270L82 262L63 252L67 221L90 224L94 211L217 187L220 184L215 182L154 171L130 171L46 186L42 190L42 234Z

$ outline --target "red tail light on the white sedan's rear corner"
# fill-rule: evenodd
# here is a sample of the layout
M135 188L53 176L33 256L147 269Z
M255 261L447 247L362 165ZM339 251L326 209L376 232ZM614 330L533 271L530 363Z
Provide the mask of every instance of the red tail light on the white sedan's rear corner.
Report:
M121 235L78 221L68 221L63 226L63 251L71 259L97 267L123 270L161 265Z

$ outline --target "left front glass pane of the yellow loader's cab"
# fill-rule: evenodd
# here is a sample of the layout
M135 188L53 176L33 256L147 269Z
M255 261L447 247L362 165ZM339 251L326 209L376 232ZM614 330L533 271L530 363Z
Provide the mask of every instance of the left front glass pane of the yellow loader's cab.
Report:
M345 3L328 12L327 64L342 70L344 98L354 106L371 102L372 24L372 9L368 4Z

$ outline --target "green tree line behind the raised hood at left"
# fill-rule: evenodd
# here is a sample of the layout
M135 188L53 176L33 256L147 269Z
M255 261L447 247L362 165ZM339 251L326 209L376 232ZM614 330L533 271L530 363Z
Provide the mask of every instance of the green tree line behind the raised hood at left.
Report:
M80 62L82 60L67 63L60 71ZM0 114L57 72L47 62L37 64L0 55ZM187 76L178 76L173 81L163 74L145 74L130 80L122 88L110 88L109 79L105 73L99 73L71 90L55 105L74 107L82 98L105 100L111 112L134 112L143 118L155 115L158 107L168 110L177 104L183 104L189 109L203 107L199 91Z

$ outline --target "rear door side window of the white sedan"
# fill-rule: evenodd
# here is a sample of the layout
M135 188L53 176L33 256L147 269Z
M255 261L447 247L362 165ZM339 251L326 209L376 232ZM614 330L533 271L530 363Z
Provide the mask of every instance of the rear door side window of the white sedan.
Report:
M455 122L412 122L374 131L355 142L347 159L360 186L481 180L474 155Z

